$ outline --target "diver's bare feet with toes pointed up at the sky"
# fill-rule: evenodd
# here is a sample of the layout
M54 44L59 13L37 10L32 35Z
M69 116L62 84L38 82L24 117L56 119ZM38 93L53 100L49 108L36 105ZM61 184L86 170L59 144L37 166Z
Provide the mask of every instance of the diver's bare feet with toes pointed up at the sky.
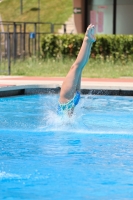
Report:
M85 36L88 37L88 39L91 41L91 42L95 42L96 41L96 38L95 38L95 26L90 24L86 30L86 33L85 33Z

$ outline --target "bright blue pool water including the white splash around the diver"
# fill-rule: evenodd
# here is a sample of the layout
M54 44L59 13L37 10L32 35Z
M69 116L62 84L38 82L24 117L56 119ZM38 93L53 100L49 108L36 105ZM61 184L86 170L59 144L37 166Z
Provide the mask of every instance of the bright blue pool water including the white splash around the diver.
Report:
M0 200L133 199L133 98L0 98Z

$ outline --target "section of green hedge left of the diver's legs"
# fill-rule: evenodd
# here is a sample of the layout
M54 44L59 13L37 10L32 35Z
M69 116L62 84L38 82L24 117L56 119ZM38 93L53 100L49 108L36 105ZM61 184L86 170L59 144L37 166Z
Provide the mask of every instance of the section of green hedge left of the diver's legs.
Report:
M82 35L45 35L42 39L44 58L76 57L82 44Z

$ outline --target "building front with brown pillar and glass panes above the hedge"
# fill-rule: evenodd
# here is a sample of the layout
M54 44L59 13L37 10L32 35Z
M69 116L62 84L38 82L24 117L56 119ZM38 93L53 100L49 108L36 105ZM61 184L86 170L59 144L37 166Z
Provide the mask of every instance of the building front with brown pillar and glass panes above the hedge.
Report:
M73 0L73 8L81 9L74 13L77 33L84 33L92 23L97 34L113 34L114 0ZM117 0L115 21L116 34L133 34L133 0Z

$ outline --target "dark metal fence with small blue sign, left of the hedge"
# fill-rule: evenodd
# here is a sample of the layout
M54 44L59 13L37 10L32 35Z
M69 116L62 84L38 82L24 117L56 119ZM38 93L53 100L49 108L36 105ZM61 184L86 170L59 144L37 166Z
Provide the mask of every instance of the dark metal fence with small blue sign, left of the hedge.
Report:
M0 73L10 75L11 61L24 60L28 56L40 56L41 37L44 34L56 33L57 26L63 27L67 33L66 24L42 22L1 22L0 32ZM4 65L6 63L6 65Z

